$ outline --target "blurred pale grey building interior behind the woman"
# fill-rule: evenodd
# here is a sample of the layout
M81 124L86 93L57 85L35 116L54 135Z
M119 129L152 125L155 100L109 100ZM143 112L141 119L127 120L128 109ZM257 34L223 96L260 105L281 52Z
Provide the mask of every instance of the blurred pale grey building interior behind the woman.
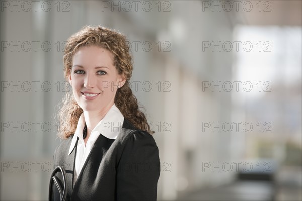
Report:
M1 1L1 200L47 200L65 41L124 33L158 200L301 200L301 1Z

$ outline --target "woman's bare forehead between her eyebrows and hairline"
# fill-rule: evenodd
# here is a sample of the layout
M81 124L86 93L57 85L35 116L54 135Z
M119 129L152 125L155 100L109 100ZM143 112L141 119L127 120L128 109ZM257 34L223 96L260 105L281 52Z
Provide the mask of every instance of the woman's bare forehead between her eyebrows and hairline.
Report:
M85 46L73 55L72 64L85 67L112 67L113 60L114 54L109 50L97 46Z

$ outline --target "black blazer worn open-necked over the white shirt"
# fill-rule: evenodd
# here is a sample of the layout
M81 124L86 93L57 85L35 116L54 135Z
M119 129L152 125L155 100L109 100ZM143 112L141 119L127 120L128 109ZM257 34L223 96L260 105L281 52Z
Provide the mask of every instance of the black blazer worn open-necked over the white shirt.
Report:
M77 148L68 155L71 141L63 140L54 154L55 166L66 170L67 200L156 200L160 159L152 135L124 119L115 140L97 138L74 185ZM56 176L62 182L61 173ZM53 191L59 200L57 188Z

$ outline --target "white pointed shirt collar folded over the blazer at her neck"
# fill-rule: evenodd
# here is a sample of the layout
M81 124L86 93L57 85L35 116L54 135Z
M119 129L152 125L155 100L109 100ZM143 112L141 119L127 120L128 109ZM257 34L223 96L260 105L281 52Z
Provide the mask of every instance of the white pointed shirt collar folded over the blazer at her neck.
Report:
M109 111L106 113L106 115L103 117L103 119L91 131L91 134L97 132L98 134L102 134L106 138L116 139L121 131L123 122L124 122L124 116L122 115L121 111L116 107L116 105L113 104L112 107L109 109ZM75 129L75 133L73 135L73 139L69 148L68 155L70 155L70 153L74 149L75 144L77 143L77 138L78 137L79 139L83 138L84 126L85 126L85 117L84 117L84 113L82 113L78 120L77 129Z

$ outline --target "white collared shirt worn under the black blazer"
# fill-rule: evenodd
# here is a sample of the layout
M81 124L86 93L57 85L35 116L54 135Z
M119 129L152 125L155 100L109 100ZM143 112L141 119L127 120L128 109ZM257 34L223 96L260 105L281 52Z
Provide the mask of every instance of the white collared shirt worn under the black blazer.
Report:
M85 146L83 139L85 117L83 113L81 114L68 153L68 155L70 155L70 153L74 149L75 143L77 143L77 138L79 137L77 145L77 154L75 154L75 174L73 180L74 183L82 170L82 167L87 159L87 156L91 151L92 146L94 145L95 141L100 136L100 134L109 139L116 139L116 137L121 131L123 122L124 116L122 115L120 110L115 106L115 104L113 104L113 106L109 109L103 119L91 131L91 134Z

